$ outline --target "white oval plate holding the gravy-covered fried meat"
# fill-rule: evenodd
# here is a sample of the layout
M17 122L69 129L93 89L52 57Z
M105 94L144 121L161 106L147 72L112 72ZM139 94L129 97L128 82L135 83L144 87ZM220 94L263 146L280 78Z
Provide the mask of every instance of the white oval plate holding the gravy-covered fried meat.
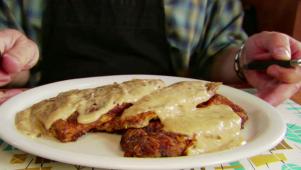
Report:
M286 126L277 110L251 94L224 85L219 93L243 107L249 116L243 130L247 144L231 150L172 158L125 158L118 135L88 134L73 143L60 143L45 138L30 138L15 128L14 120L18 111L59 92L134 78L162 79L167 84L193 80L155 75L119 75L67 80L36 87L11 98L0 107L0 138L20 150L50 160L97 168L140 170L194 168L236 161L269 150L284 137Z

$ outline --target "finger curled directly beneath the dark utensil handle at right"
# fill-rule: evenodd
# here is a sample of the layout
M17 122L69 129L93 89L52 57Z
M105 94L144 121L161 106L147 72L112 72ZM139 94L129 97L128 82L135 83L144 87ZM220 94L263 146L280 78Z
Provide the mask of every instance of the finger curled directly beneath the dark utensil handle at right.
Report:
M299 67L284 68L278 65L272 65L268 67L266 73L283 83L297 83L301 81L301 69Z

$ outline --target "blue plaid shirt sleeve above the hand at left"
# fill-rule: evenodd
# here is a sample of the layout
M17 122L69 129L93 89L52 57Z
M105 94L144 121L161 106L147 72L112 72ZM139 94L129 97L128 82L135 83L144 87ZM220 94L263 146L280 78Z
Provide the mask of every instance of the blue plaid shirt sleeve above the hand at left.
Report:
M43 0L0 0L0 29L17 29L40 43Z

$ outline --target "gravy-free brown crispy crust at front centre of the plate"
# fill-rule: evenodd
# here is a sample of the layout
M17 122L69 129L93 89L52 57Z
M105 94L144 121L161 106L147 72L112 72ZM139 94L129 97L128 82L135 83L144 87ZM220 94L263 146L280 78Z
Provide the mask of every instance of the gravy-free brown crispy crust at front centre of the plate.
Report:
M120 141L126 157L173 157L185 155L193 140L186 135L163 131L160 121L145 128L127 130Z

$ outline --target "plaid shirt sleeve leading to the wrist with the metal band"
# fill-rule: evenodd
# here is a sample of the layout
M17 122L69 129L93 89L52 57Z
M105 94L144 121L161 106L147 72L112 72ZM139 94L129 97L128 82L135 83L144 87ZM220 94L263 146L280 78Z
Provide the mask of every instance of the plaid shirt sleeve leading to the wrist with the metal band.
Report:
M209 1L205 15L190 66L193 77L209 79L214 57L230 46L240 46L247 35L242 29L243 9L239 0Z

